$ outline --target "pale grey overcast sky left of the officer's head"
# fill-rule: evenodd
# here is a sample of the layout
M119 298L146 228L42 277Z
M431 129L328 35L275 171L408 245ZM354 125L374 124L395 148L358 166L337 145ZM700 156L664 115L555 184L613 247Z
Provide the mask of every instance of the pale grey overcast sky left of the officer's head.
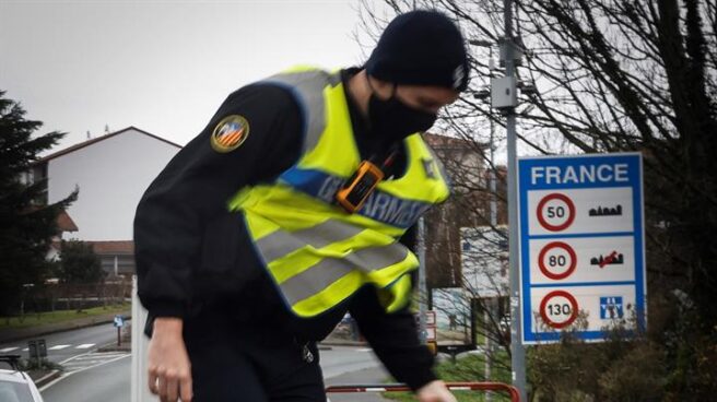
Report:
M45 123L40 132L68 132L57 149L105 125L184 145L244 84L294 64L363 62L357 9L355 0L0 0L0 90Z

